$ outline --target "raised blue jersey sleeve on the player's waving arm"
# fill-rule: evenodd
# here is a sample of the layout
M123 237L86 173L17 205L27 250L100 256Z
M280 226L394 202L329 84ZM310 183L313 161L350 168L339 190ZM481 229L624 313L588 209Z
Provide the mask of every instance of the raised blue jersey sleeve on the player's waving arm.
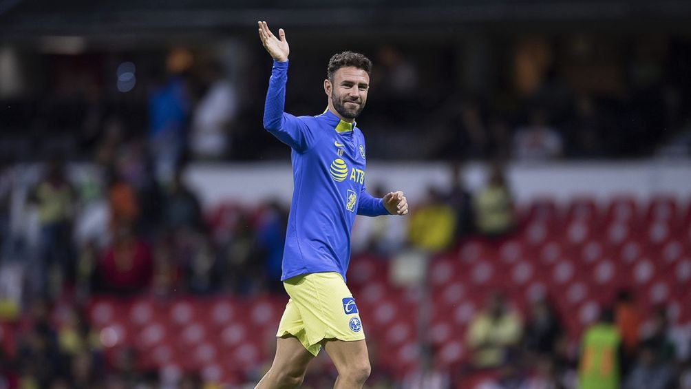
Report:
M306 151L315 142L310 126L299 117L283 112L285 108L285 83L288 79L288 61L274 60L269 79L269 90L264 104L264 128L278 140L298 152Z

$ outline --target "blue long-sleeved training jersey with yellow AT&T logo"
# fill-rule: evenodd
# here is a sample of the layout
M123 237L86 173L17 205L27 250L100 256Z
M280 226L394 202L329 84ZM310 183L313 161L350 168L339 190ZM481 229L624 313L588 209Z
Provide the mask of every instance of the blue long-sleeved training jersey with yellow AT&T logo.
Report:
M354 123L328 109L321 115L284 113L288 62L274 61L264 128L292 148L293 198L281 281L337 272L345 280L355 215L387 215L381 198L365 190L365 138Z

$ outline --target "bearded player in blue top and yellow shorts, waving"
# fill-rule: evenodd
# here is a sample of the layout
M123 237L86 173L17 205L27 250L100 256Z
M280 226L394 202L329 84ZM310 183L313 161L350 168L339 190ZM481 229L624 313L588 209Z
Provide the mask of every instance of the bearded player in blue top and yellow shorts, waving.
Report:
M283 113L290 48L264 21L259 37L274 59L264 127L291 146L294 193L281 281L290 296L278 325L276 357L257 388L294 388L323 347L339 377L334 388L362 388L370 374L357 306L345 285L355 215L408 214L403 192L373 198L365 190L365 141L355 118L367 100L372 62L357 53L334 55L324 92L326 111L314 117Z

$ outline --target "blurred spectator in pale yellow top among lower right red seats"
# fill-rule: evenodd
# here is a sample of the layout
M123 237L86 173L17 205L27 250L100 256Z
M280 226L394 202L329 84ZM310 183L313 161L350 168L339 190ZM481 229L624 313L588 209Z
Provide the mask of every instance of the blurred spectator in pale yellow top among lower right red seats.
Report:
M494 292L484 310L471 320L466 342L475 368L496 368L513 360L522 334L520 316L507 304L504 295Z

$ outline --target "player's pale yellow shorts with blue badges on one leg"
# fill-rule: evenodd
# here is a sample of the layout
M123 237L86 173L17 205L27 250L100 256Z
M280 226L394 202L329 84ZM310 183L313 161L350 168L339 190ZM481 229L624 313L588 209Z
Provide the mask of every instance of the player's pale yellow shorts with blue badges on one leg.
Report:
M359 312L338 273L312 273L283 281L290 300L276 336L295 336L315 357L324 339L365 339Z

